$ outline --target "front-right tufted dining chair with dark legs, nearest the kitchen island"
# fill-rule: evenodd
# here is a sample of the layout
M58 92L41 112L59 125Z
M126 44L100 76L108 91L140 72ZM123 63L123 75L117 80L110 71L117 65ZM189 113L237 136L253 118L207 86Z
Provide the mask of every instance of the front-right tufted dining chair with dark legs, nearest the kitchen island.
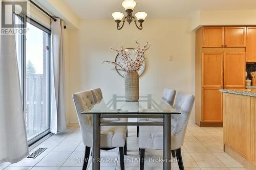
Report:
M171 150L176 152L176 157L180 170L184 169L181 147L184 143L185 133L191 109L195 101L194 95L184 92L177 94L174 108L181 112L177 119L172 118L172 136L171 136ZM150 122L143 120L142 122ZM141 160L145 156L145 149L163 149L163 127L161 126L140 126L139 128L139 149ZM140 169L144 169L144 162L140 161Z

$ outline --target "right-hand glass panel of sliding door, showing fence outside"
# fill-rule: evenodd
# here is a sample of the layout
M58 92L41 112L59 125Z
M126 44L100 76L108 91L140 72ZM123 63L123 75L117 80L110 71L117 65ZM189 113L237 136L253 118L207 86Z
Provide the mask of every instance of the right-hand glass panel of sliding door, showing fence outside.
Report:
M26 127L28 139L49 129L50 34L27 22Z

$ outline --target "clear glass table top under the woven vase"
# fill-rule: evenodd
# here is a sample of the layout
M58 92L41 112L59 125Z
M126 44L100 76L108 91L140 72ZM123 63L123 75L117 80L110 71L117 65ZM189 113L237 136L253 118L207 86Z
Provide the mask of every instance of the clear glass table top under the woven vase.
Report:
M180 114L164 100L153 98L151 94L141 95L139 101L126 101L124 96L116 94L104 98L94 106L82 111L84 114Z

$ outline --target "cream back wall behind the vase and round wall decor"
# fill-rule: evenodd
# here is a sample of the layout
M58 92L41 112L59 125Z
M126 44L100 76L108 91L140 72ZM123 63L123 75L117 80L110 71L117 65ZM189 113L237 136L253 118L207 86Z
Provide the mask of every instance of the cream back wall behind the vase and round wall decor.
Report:
M124 93L124 79L102 62L115 59L110 47L136 47L135 40L152 44L146 52L147 69L140 77L140 94L161 95L164 87L195 94L195 33L190 31L190 20L147 19L143 26L140 31L134 23L125 23L118 31L112 19L81 20L80 30L69 32L70 123L77 122L72 93L96 87L103 95ZM169 61L170 55L173 61ZM194 109L191 120L195 120Z

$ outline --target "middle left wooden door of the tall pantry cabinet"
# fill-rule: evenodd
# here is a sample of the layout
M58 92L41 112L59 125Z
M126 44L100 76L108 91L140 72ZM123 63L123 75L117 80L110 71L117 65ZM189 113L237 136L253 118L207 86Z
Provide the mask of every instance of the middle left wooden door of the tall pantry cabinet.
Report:
M205 49L202 54L203 87L223 86L223 51Z

